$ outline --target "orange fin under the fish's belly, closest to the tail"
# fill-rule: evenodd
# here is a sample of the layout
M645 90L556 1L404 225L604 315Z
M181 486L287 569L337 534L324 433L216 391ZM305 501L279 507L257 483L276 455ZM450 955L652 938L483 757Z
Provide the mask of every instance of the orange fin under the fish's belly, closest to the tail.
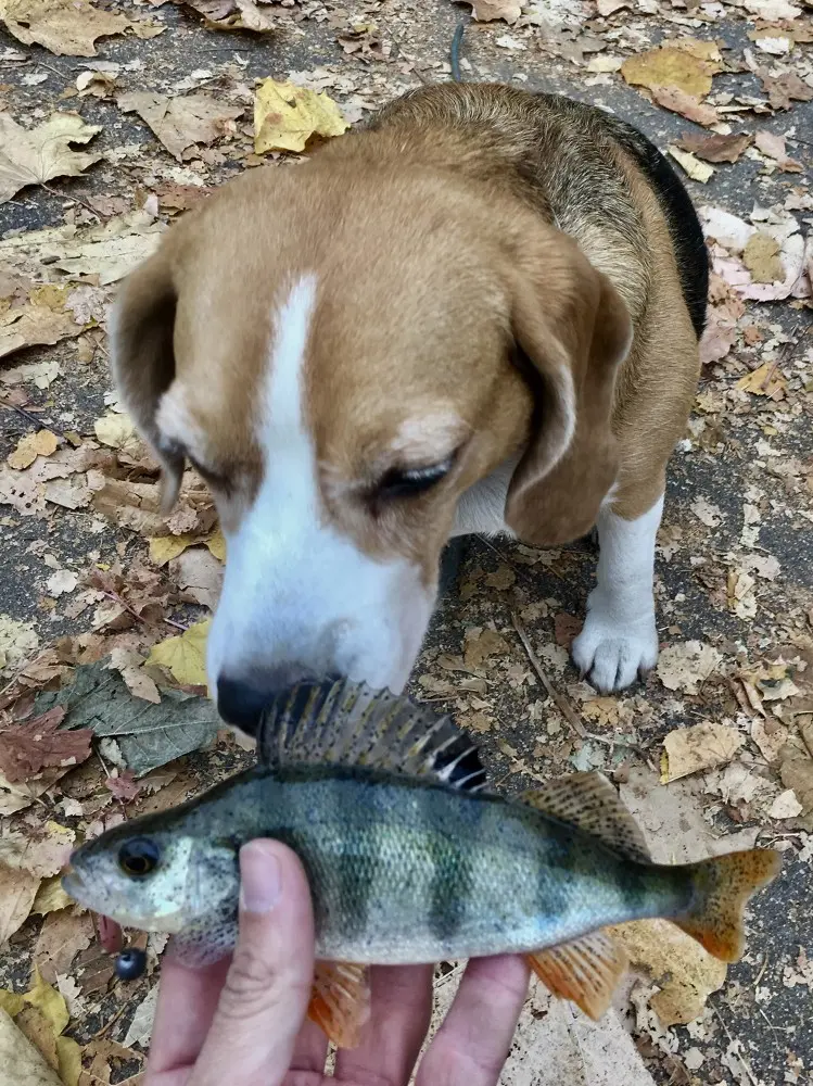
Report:
M571 999L594 1022L610 1006L627 967L626 955L605 932L530 954L528 961L555 996Z

